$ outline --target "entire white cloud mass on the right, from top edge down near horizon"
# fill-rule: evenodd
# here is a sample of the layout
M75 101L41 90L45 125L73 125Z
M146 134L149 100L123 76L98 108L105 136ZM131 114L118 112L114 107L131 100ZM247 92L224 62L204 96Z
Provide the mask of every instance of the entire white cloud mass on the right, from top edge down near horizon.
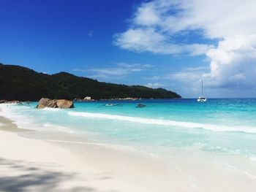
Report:
M129 19L127 31L114 35L114 43L138 53L205 55L208 88L256 94L255 7L255 0L144 2ZM199 38L182 41L195 34ZM184 69L168 78L192 88L200 75L200 70Z

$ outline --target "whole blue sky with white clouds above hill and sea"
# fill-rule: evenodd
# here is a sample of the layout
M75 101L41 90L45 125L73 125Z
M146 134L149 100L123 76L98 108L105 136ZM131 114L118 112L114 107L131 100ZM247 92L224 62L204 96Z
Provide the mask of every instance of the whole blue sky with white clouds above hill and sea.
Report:
M162 87L256 96L255 1L0 0L0 62ZM223 19L225 18L225 19Z

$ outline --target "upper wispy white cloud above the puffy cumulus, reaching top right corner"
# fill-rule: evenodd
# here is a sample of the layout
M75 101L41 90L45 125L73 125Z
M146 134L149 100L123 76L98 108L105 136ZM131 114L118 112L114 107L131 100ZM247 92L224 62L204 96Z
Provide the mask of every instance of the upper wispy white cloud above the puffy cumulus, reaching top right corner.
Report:
M115 35L115 45L137 52L206 53L212 45L184 44L175 37L200 31L210 39L249 35L256 31L255 0L155 0L140 4L127 31Z

